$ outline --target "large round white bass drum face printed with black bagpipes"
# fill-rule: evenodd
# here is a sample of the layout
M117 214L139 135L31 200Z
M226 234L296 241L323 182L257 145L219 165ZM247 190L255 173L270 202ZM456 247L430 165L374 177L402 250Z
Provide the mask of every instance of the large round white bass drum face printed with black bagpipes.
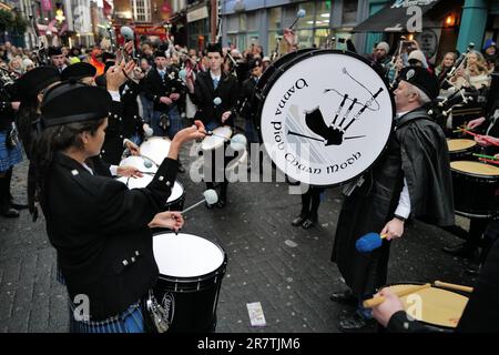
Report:
M257 126L266 153L283 173L332 186L376 162L394 116L388 84L366 59L315 50L275 71L262 93Z

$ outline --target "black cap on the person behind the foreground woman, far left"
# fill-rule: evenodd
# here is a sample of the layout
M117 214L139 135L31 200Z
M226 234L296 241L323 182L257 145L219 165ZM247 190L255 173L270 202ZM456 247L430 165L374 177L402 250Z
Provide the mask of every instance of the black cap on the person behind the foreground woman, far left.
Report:
M60 80L61 77L55 67L37 67L18 79L18 94L21 99L29 99Z

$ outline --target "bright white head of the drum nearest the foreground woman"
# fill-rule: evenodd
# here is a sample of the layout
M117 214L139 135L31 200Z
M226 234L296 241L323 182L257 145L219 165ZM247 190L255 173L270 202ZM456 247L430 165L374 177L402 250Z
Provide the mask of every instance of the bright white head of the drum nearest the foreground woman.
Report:
M160 274L194 277L208 274L224 262L224 252L214 243L192 234L163 233L153 239Z

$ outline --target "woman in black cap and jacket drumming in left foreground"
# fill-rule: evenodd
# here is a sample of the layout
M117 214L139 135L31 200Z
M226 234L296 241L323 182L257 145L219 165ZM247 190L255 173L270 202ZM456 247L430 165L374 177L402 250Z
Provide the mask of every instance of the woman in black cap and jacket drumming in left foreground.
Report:
M35 141L37 187L50 242L67 281L73 332L143 332L140 300L157 277L150 227L183 225L162 212L177 171L181 145L204 138L204 125L180 131L144 189L99 176L90 158L105 136L111 95L82 83L61 83L42 102ZM85 311L86 310L86 311Z

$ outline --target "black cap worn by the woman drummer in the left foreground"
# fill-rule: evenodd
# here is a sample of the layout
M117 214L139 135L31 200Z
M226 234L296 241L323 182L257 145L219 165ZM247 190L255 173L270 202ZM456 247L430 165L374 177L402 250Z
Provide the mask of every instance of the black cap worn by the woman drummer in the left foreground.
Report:
M43 95L43 125L47 128L104 119L109 115L111 104L111 95L102 88L63 82Z

